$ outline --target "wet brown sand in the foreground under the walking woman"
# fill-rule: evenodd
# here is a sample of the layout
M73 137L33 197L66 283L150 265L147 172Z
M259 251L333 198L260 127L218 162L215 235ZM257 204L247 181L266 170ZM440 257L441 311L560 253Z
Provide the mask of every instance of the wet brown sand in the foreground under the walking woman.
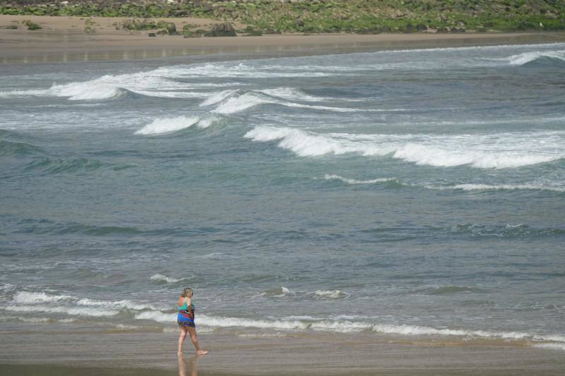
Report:
M0 375L563 375L562 350L375 334L177 333L38 325L1 330Z

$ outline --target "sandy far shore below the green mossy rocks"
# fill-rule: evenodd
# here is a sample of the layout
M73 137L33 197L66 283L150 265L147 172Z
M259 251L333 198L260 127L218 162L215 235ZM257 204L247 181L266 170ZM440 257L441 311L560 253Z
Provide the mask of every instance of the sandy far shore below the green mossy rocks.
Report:
M57 63L67 61L124 61L190 56L227 55L238 58L304 56L386 49L475 47L496 44L529 44L565 41L564 32L492 34L326 34L263 35L261 37L197 37L181 35L148 37L148 32L115 30L121 18L91 18L97 32L83 32L85 18L51 16L0 16L0 63ZM22 20L32 20L41 30L24 30ZM198 18L163 18L182 23L214 21ZM17 30L5 29L13 23Z

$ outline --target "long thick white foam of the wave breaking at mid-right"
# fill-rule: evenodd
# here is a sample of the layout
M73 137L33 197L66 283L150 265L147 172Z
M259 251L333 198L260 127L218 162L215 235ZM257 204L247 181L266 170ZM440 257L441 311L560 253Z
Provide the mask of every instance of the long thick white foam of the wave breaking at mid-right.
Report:
M384 156L428 166L469 165L507 169L565 157L563 132L486 135L316 134L297 128L258 126L244 135L254 141L280 140L279 146L301 157L357 153Z

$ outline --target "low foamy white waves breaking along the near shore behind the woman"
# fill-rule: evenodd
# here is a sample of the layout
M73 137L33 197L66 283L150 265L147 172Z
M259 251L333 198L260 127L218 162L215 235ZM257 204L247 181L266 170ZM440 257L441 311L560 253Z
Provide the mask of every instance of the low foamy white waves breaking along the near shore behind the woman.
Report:
M168 279L162 274L154 274L152 279ZM428 289L429 290L429 289ZM444 286L423 293L460 293L472 292L473 288L466 286ZM476 292L476 291L475 291ZM264 291L266 294L276 296L277 294L292 293L285 287ZM340 290L318 290L312 293L313 297L325 299L346 298L347 294ZM164 312L153 304L134 303L129 300L123 301L101 301L90 298L76 298L69 295L57 295L45 292L18 291L13 295L11 302L0 305L0 310L18 313L47 313L64 314L78 317L124 317L127 320L150 320L158 323L173 323L176 313ZM6 316L6 320L29 320L30 317ZM313 330L322 332L375 332L379 334L399 334L408 336L461 336L468 339L504 339L531 341L533 345L545 348L563 349L565 346L565 335L562 334L537 334L530 332L500 332L475 329L451 329L423 327L415 325L380 324L367 320L350 320L352 317L280 317L280 318L248 318L248 317L225 317L213 315L197 315L197 325L202 325L207 331L215 328L257 328L274 330ZM15 320L15 319L14 319ZM72 322L73 317L45 317L42 322Z

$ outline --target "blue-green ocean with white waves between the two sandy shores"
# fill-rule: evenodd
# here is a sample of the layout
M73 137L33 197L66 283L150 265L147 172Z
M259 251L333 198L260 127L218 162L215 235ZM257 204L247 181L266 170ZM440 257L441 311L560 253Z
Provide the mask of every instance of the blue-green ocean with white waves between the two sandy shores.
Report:
M565 44L0 66L0 325L565 350Z

